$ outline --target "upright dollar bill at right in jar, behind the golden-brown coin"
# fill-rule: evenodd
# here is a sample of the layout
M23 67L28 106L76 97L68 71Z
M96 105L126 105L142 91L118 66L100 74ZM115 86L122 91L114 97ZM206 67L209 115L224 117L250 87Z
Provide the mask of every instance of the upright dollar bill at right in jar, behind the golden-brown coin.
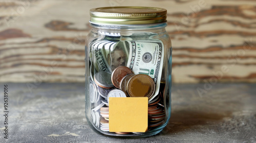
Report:
M131 68L134 74L145 74L154 79L156 90L149 99L154 99L160 88L163 68L163 43L162 41L125 41L130 47L127 67Z

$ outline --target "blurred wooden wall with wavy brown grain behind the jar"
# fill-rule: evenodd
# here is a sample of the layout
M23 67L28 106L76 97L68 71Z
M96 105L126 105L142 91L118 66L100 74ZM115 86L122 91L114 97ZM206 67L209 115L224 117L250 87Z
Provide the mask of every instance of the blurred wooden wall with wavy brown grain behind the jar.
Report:
M0 82L84 82L89 10L109 6L167 9L175 83L256 82L254 0L0 1Z

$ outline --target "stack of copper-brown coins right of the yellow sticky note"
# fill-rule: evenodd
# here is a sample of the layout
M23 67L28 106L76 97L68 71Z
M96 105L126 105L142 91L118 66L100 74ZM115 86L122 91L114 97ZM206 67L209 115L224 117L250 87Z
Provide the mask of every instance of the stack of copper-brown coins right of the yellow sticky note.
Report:
M160 95L148 103L148 127L156 127L163 123L165 118L164 108L159 102Z

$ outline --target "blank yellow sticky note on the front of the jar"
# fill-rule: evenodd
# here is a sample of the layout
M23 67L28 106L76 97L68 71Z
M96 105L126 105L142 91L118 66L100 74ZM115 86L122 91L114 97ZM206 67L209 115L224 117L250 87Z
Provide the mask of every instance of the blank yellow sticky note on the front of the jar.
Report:
M145 132L148 98L109 98L110 132Z

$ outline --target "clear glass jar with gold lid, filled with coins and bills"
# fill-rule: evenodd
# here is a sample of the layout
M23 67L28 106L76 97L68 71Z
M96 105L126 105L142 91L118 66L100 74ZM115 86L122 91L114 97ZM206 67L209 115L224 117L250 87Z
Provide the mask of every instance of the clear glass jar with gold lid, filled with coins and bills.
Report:
M85 48L88 124L99 134L118 138L161 132L170 118L172 86L172 43L165 30L166 10L105 7L91 9L90 15L92 29ZM111 97L147 98L147 129L110 132L110 127L112 130L119 123L111 123L111 116L116 116L113 110L121 110L111 108L115 105L109 103Z

